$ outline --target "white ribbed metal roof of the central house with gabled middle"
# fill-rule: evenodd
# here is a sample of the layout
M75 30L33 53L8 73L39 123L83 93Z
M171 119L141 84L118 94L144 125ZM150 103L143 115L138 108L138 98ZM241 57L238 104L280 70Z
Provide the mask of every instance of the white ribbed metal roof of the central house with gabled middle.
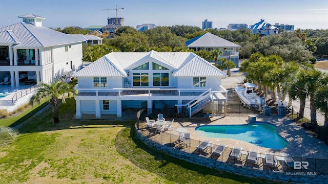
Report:
M192 52L112 52L101 57L74 77L125 77L131 68L148 60L163 64L173 70L173 76L222 76L227 75ZM150 66L151 67L151 66Z

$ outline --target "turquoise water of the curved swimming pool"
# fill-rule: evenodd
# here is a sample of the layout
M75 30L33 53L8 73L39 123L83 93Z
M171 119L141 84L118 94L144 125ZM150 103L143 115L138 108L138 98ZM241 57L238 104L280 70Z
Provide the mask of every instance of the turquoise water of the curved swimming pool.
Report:
M265 122L204 125L196 127L195 132L205 137L240 140L265 148L280 149L288 146L288 142L277 133L277 127Z

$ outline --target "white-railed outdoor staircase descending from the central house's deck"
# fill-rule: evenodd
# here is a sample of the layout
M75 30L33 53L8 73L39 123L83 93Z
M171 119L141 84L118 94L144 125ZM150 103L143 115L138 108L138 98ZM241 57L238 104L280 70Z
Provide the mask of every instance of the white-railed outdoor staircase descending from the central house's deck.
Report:
M208 89L195 99L189 101L186 106L186 117L191 118L194 116L197 112L202 110L204 107L206 107L209 103L211 103L212 98L211 98L211 89Z

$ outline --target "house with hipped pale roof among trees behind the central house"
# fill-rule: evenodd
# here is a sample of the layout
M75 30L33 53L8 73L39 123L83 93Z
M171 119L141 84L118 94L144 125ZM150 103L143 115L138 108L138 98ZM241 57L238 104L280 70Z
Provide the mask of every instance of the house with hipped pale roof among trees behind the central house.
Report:
M219 49L222 54L219 58L227 58L239 67L239 49L240 45L216 36L212 33L205 33L186 41L187 48L193 49L194 51L206 50L214 51Z

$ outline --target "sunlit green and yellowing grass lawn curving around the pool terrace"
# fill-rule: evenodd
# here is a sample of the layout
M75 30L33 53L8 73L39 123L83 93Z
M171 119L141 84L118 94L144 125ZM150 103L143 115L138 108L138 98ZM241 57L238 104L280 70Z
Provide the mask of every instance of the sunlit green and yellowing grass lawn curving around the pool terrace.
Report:
M156 152L132 140L130 121L73 120L75 101L67 102L59 124L46 107L0 147L0 183L272 183Z

